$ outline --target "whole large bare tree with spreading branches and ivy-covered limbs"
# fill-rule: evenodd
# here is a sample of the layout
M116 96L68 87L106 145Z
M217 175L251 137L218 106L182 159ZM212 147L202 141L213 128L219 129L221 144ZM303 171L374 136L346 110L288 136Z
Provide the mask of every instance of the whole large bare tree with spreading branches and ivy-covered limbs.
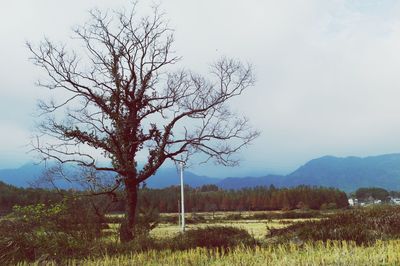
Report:
M130 240L138 185L164 162L200 152L223 165L238 163L234 153L259 133L227 102L252 86L254 77L250 65L227 58L210 66L208 78L177 70L173 31L158 8L138 19L135 8L90 15L74 30L84 53L48 39L27 44L34 64L48 74L39 85L65 97L39 103L45 119L34 149L44 160L115 172L110 189L121 185L126 194L121 239ZM99 164L94 149L112 163ZM144 153L147 160L139 167Z

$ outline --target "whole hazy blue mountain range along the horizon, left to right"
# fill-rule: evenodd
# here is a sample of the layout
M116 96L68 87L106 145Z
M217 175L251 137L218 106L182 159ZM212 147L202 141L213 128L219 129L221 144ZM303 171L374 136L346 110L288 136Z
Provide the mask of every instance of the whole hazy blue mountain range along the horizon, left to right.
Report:
M0 170L0 181L18 187L28 187L44 171L44 166L32 163L17 169ZM161 168L146 181L147 187L163 188L179 184L179 173L174 168ZM360 187L381 187L400 190L400 154L369 157L324 156L313 159L294 172L262 177L214 178L185 171L185 184L198 187L215 184L223 189L270 186L293 187L297 185L335 187L350 192ZM64 182L64 188L71 185Z

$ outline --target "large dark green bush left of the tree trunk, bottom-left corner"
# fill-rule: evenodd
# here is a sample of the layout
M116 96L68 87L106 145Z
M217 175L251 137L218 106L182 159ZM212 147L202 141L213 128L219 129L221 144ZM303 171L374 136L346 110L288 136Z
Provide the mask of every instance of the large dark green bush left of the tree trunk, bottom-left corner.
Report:
M15 206L0 220L0 263L87 254L101 229L101 219L78 199Z

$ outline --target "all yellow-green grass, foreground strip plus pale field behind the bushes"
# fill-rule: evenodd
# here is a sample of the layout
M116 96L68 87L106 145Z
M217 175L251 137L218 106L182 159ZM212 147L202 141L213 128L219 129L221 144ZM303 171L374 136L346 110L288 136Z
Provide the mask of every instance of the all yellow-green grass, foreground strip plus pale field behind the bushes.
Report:
M259 212L258 212L259 213ZM310 219L248 219L254 212L241 213L243 219L230 220L237 213L201 213L204 221L188 224L187 229L206 226L233 226L247 230L259 244L239 245L228 249L191 248L186 250L158 249L108 255L82 259L67 259L62 265L400 265L400 239L378 240L370 244L356 244L353 241L296 241L274 242L266 237L268 228L284 228ZM174 216L177 214L162 214ZM191 214L188 214L190 217ZM217 216L218 215L218 216ZM216 218L218 217L218 218ZM322 218L323 219L323 218ZM111 231L117 230L112 224ZM175 223L160 223L151 231L151 236L169 241L179 234ZM111 240L111 239L110 239ZM118 242L118 238L113 241ZM165 242L164 242L165 243ZM22 262L18 265L59 265L55 261Z

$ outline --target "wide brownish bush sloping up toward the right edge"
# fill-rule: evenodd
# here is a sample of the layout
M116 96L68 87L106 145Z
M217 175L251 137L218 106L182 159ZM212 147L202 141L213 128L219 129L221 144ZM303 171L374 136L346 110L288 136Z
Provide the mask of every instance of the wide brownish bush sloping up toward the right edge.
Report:
M270 229L269 236L282 240L346 240L357 244L397 238L400 237L400 207L378 206L345 211L319 221Z

